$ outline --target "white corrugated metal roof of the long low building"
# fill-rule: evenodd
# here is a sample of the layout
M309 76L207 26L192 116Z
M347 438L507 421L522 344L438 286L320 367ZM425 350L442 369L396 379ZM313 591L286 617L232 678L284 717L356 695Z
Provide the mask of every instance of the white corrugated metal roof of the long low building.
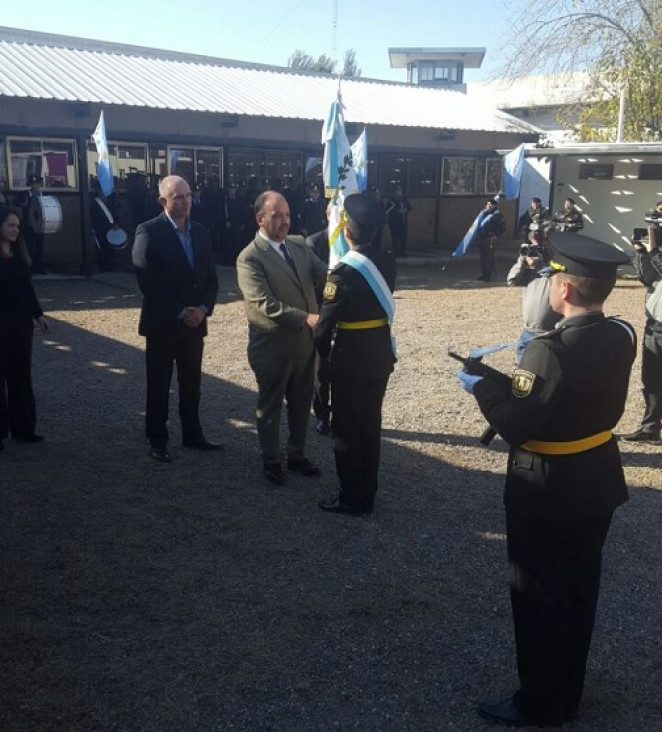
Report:
M336 77L0 27L0 96L323 120ZM347 122L535 133L460 92L343 79Z

